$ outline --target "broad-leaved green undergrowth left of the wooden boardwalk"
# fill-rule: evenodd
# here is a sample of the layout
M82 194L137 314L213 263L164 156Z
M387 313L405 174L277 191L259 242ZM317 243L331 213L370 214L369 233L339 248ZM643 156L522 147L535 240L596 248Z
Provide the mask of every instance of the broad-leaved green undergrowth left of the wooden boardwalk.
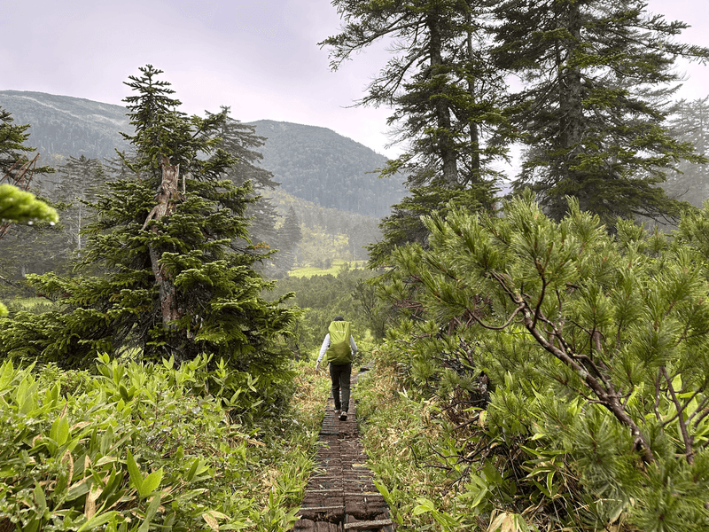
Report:
M292 527L316 452L323 386L295 368L291 406L254 419L247 374L121 363L97 374L0 366L0 531ZM254 410L257 407L254 406Z

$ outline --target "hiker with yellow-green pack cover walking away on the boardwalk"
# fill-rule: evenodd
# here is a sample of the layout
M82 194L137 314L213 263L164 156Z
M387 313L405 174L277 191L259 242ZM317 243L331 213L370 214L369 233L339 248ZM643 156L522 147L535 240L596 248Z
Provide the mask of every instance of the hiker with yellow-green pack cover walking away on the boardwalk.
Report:
M327 362L330 364L330 379L332 381L332 399L335 400L335 416L340 421L347 420L349 408L349 379L352 374L352 358L357 354L357 345L352 337L350 323L344 317L336 316L332 319L325 335L323 345L320 347L320 356L317 357L316 372L320 369L320 361L327 353ZM340 400L340 393L342 399Z

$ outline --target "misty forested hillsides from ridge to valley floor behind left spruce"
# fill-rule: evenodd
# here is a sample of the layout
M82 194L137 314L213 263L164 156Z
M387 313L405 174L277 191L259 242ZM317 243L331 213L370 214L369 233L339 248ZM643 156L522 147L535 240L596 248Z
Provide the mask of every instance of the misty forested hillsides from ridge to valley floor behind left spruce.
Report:
M49 232L20 227L0 242L0 274L19 280L30 272L66 269L66 261L81 253L79 232L90 216L77 198L96 198L105 181L125 171L117 164L115 148L129 149L119 133L132 129L127 109L15 90L0 91L0 106L17 123L30 125L30 145L41 161L58 168L57 173L35 176L33 190L63 202L65 208L62 222ZM275 121L239 123L230 121L234 131L221 134L244 136L246 129L256 128L255 135L238 140L245 143L238 153L244 165L230 177L238 184L250 179L254 193L265 196L250 207L253 244L279 250L264 262L264 271L280 277L293 265L366 259L365 246L381 238L379 217L401 200L403 187L367 174L386 164L386 158L329 129ZM317 162L308 158L306 164L303 153L317 153ZM269 175L271 168L280 174ZM327 198L322 191L329 191ZM276 206L270 205L270 198L277 198Z

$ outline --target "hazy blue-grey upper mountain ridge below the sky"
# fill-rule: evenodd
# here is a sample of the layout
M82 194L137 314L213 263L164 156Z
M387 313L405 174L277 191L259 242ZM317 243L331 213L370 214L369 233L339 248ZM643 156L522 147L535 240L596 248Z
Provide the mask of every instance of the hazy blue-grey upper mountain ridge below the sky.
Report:
M126 108L43 92L0 90L0 106L16 124L30 124L28 144L45 156L114 158L129 150L120 132L131 132ZM238 116L234 118L238 119ZM405 194L399 180L378 179L386 157L331 129L283 121L255 121L267 137L261 166L284 192L325 208L382 217ZM46 161L46 160L45 160Z

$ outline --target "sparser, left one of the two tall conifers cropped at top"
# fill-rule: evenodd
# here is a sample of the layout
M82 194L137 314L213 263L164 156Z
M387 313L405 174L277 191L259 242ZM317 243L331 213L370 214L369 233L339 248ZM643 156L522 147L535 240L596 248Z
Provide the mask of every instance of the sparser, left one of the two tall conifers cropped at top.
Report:
M412 192L382 225L384 248L425 233L418 211L436 205L439 188L464 196L462 201L474 195L480 207L492 208L498 177L492 163L506 154L504 142L492 139L508 133L502 133L504 83L486 57L482 5L469 0L333 4L346 22L339 35L321 43L331 48L333 69L378 40L395 43L395 55L359 102L392 106L389 124L408 148L382 172L406 174Z

